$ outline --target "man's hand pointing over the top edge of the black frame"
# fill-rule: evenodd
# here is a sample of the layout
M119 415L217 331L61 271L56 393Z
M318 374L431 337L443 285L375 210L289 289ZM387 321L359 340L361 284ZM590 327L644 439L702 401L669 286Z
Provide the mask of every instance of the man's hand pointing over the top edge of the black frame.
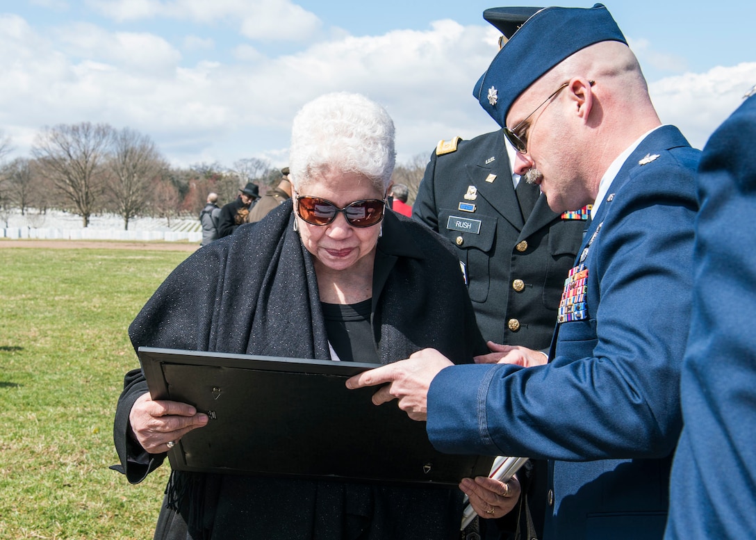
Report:
M453 365L441 352L423 349L407 360L364 371L346 381L349 389L386 384L373 394L373 403L381 405L398 399L399 408L412 420L428 417L428 389L439 371Z

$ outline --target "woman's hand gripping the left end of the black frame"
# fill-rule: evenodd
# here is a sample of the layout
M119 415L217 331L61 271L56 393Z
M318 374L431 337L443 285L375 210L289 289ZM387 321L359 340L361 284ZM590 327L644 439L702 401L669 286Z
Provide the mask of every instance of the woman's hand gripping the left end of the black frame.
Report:
M207 414L187 403L153 401L149 393L139 396L129 413L134 439L150 454L167 452L178 439L207 421Z

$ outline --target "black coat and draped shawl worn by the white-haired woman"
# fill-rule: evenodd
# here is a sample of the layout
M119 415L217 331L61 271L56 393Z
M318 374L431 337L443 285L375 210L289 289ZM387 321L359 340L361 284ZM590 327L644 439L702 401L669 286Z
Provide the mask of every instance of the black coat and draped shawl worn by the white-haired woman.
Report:
M129 327L135 348L329 359L311 256L292 224L292 203L287 201L261 222L243 225L236 234L190 256ZM427 346L469 362L485 346L456 257L440 238L409 219L388 213L382 226L372 315L380 362L407 358ZM146 390L141 371L127 374L116 411L119 469L132 483L165 458L147 455L128 435L129 411ZM176 476L163 503L156 538L435 540L459 534L462 505L457 489ZM192 496L170 504L180 483L193 486Z

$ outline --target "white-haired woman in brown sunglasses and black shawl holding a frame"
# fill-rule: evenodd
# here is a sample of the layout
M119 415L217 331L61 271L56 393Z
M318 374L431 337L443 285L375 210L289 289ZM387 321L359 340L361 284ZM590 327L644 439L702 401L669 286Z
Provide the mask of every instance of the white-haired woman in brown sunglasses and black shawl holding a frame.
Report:
M451 358L486 352L451 248L386 211L395 163L386 110L361 95L315 99L294 119L290 154L292 200L179 265L129 327L135 348L380 364L428 346ZM191 405L153 401L141 371L129 372L116 468L140 482L207 421ZM451 540L461 495L173 471L155 538Z

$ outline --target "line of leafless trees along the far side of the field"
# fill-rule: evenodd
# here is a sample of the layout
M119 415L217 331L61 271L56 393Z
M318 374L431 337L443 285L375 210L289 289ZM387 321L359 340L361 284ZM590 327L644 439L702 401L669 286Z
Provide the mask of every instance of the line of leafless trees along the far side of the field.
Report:
M268 160L245 158L231 166L196 163L170 166L148 135L109 124L82 122L45 127L34 139L29 157L5 160L10 138L0 135L0 222L8 226L11 211L46 213L64 210L80 216L87 227L92 216L121 216L124 230L138 217L166 219L197 216L207 194L221 203L237 197L253 182L265 194L280 180ZM426 157L396 166L393 181L407 185L412 203L423 178Z

